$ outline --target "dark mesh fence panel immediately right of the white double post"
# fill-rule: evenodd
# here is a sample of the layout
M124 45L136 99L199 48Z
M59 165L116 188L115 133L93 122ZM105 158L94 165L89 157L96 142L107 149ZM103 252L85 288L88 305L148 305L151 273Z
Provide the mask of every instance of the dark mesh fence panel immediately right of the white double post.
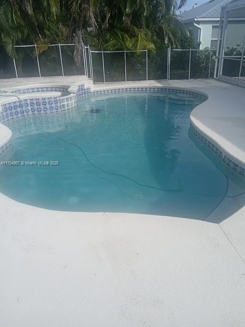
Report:
M170 80L185 80L189 78L189 50L170 51Z

